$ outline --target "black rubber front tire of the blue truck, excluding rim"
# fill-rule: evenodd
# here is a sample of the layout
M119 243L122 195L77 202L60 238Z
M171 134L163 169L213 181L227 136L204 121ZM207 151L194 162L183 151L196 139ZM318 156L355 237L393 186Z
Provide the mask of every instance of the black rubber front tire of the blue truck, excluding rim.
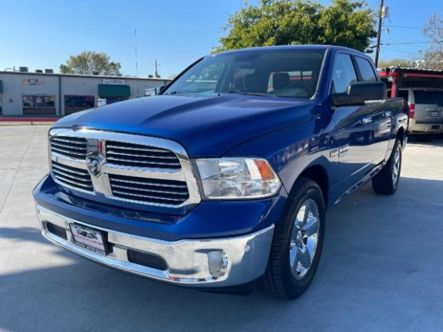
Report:
M315 202L319 212L319 234L314 257L307 273L296 279L291 271L290 243L296 214L304 202ZM309 178L299 178L291 191L280 220L276 223L268 266L260 278L260 287L272 295L294 299L302 295L310 286L323 247L325 229L325 203L319 185Z

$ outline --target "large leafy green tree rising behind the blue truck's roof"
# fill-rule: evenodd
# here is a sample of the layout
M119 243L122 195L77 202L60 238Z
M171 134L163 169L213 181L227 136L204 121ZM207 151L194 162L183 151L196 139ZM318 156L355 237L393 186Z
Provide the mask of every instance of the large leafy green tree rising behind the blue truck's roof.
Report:
M229 30L215 52L253 46L331 44L367 50L375 31L374 12L365 1L260 0L228 18Z

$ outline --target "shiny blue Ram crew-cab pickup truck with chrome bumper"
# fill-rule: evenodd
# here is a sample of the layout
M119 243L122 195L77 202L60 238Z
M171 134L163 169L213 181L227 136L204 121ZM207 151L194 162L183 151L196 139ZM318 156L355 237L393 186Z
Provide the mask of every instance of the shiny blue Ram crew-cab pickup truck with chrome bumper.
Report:
M370 180L398 187L408 105L385 96L371 59L344 47L208 55L159 96L51 127L43 236L162 282L299 297L325 212Z

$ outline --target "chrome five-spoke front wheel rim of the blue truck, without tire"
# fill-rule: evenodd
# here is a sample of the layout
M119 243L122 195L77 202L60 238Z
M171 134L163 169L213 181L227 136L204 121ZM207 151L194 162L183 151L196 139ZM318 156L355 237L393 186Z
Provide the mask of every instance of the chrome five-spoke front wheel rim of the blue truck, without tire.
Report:
M289 264L295 279L302 279L309 271L317 251L319 231L319 207L309 199L295 216L289 245Z

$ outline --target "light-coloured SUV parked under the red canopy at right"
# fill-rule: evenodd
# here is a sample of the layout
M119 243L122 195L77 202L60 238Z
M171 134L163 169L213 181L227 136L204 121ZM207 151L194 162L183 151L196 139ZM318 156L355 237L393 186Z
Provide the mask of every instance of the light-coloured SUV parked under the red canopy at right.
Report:
M391 96L390 90L387 95ZM431 141L435 134L443 132L443 89L400 88L398 97L409 104L409 135Z

